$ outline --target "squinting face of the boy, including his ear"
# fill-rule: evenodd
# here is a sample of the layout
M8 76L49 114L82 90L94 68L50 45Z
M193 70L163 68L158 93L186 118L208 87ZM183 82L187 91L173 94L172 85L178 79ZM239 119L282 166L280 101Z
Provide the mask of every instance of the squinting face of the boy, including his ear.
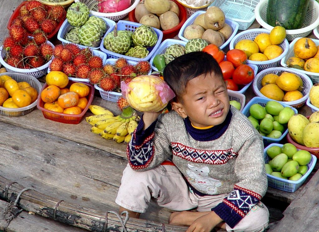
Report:
M196 127L223 123L230 107L225 82L214 73L191 79L182 99L183 103L173 102L173 108Z

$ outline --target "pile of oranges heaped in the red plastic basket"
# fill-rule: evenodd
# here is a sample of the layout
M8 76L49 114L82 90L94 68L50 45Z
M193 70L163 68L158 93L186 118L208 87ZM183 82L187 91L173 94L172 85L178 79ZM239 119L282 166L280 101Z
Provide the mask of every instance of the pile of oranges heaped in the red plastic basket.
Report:
M85 109L90 92L84 83L69 84L68 76L60 71L51 71L46 76L48 87L42 90L41 99L45 102L43 108L64 114L81 114Z

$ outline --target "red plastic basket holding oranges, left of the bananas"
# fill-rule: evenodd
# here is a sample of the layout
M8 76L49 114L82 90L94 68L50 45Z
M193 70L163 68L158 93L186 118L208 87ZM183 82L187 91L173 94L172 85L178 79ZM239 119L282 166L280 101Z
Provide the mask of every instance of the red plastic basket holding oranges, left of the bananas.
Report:
M46 84L44 84L44 86L42 87L42 89L40 91L40 94L38 96L38 102L37 102L37 108L42 111L42 114L45 118L50 119L52 121L59 122L59 123L78 124L81 122L81 119L83 118L84 114L86 113L87 109L89 109L89 106L92 103L93 96L94 96L94 86L91 85L90 83L86 83L86 82L78 82L78 81L69 80L69 84L66 87L70 88L70 86L73 83L83 83L83 84L89 86L89 88L90 88L90 92L86 96L88 102L87 102L85 109L82 110L82 113L71 115L71 114L63 114L63 113L54 112L54 111L51 111L48 109L44 109L43 106L45 103L41 99L41 92L46 87L48 87L48 84L46 83Z

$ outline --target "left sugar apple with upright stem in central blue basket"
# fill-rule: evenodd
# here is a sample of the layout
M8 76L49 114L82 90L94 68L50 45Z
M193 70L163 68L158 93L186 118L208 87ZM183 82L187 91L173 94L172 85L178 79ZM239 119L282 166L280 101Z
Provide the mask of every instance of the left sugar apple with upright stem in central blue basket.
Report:
M117 31L115 27L114 31L104 37L103 44L111 52L124 54L130 48L131 37L126 31Z

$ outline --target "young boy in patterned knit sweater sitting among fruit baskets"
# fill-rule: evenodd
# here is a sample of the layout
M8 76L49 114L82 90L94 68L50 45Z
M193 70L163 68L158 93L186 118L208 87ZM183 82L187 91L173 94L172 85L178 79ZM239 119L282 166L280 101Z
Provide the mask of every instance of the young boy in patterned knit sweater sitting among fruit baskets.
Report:
M163 76L176 95L174 110L145 112L140 120L115 200L119 211L138 218L155 198L183 211L169 223L189 226L187 232L263 231L269 213L260 202L267 190L262 138L230 106L218 63L191 52L167 64Z

